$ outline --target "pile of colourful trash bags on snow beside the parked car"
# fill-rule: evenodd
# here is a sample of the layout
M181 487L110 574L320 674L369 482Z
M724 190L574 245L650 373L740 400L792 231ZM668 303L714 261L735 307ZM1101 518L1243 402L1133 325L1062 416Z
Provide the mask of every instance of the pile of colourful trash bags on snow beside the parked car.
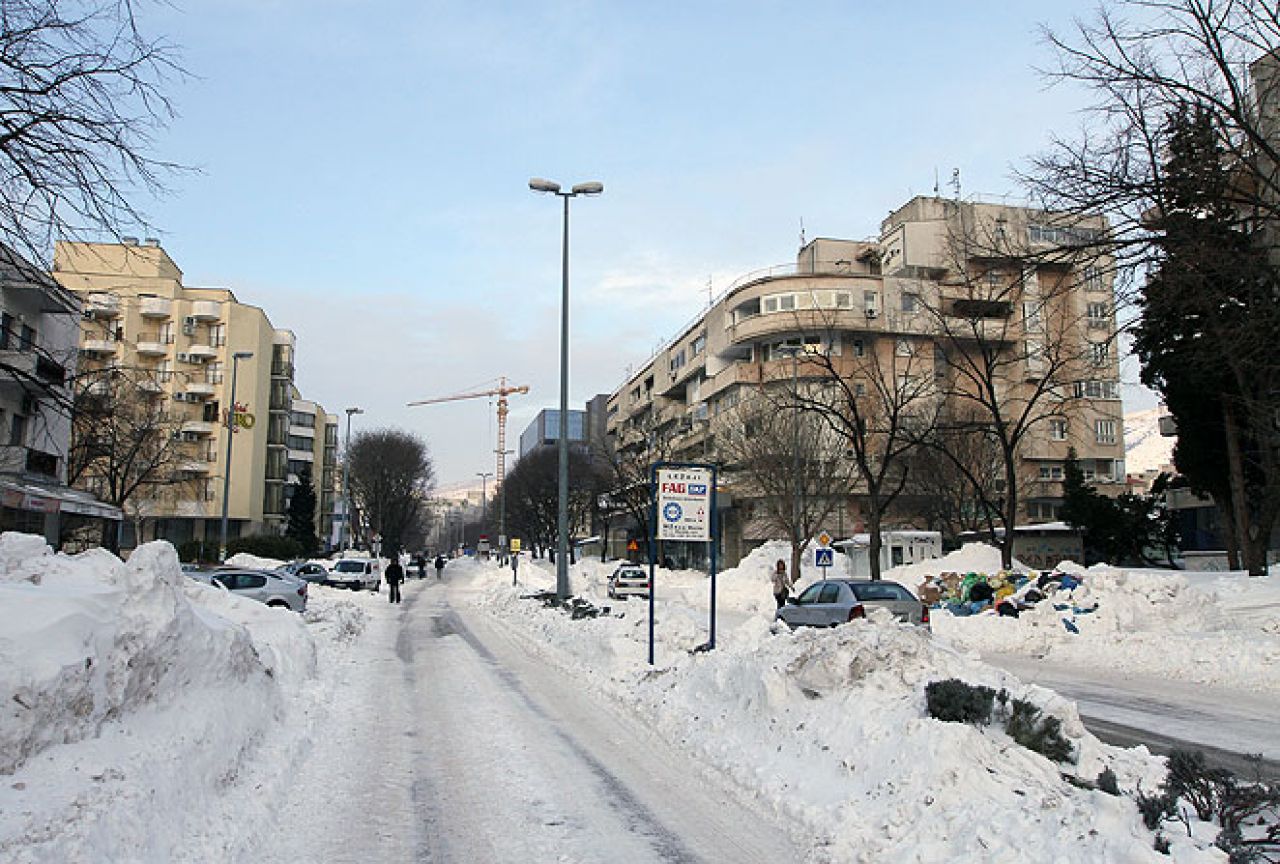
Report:
M1075 589L1082 588L1082 576L1060 570L1012 571L996 573L942 572L920 584L916 593L923 603L936 609L946 609L954 616L997 614L1016 618L1041 603L1053 604L1064 613L1062 625L1070 632L1079 632L1075 616L1089 614L1097 603L1078 605Z

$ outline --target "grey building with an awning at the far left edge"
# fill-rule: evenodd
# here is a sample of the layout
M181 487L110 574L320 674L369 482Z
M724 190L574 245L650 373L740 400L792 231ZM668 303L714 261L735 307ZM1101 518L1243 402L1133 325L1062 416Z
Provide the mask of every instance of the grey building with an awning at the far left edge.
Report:
M0 530L106 540L120 511L67 486L79 300L0 246Z

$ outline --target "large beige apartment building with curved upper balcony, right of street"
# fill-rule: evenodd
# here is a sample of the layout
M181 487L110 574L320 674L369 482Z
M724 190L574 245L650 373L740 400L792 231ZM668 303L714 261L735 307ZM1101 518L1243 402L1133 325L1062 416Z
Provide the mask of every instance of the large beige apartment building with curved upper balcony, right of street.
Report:
M741 424L733 408L762 387L791 387L792 376L815 387L832 370L852 380L868 358L936 380L938 399L965 402L956 398L968 387L956 380L957 355L987 349L1001 358L1001 398L1029 399L1041 417L1018 451L1019 521L1053 521L1069 448L1105 490L1124 488L1112 268L1093 251L1105 232L1101 218L916 197L882 223L878 239L812 241L795 265L739 279L635 371L609 397L609 442L641 462L646 453L723 461L717 439L726 424ZM803 360L810 355L829 364ZM732 471L722 485L722 554L732 566L781 535L751 518ZM859 495L855 481L831 531L865 530ZM908 495L883 527L928 525Z

